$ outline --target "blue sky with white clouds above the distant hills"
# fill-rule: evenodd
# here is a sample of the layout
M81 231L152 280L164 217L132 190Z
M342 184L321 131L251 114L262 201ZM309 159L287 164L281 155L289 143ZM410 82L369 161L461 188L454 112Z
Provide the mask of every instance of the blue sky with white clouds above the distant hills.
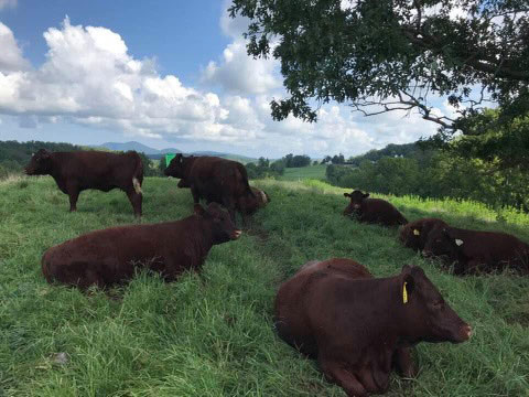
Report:
M0 0L0 140L249 157L345 157L435 132L417 114L327 104L316 124L274 121L279 61L246 53L229 1ZM435 106L449 115L443 100Z

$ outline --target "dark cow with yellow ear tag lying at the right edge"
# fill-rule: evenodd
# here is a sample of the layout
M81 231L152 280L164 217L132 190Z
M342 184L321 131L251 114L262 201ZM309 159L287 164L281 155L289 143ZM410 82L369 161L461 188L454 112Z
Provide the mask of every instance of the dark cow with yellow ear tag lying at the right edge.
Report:
M529 273L529 245L507 233L435 227L423 254L454 264L455 275L498 272L507 267Z

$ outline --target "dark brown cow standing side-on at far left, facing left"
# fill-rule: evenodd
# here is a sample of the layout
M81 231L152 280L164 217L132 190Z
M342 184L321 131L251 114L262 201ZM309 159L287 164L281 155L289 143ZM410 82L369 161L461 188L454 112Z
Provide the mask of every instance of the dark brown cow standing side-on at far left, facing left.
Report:
M69 211L77 211L79 193L87 189L108 192L119 187L141 216L143 163L136 151L122 154L102 151L50 152L40 149L25 168L28 175L51 175L69 196Z

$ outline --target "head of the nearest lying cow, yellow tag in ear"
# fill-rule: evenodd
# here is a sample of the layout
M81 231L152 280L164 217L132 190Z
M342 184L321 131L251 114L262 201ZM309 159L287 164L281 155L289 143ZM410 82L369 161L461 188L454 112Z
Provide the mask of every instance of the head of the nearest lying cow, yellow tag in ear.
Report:
M420 267L404 266L397 279L396 293L404 311L408 342L461 343L471 337L471 325L450 307Z

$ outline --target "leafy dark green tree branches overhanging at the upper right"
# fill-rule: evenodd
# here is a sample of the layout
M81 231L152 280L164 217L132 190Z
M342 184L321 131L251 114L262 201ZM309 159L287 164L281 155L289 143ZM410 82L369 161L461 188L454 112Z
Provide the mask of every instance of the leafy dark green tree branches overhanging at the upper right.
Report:
M486 135L475 121L487 104L501 124L529 114L527 0L233 0L229 12L251 21L250 55L281 61L290 97L272 100L274 119L315 121L330 100L365 115L417 110L442 143ZM432 96L456 116L435 114Z

